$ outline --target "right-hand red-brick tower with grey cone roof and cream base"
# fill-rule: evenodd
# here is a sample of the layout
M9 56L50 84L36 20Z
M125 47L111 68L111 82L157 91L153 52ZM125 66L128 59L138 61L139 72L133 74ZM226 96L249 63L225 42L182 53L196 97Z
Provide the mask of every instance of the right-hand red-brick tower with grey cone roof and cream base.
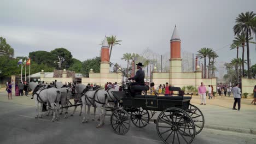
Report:
M181 38L179 38L179 33L174 27L172 38L170 40L171 43L171 58L170 58L170 83L174 82L174 79L181 78L182 73L182 59L181 59Z

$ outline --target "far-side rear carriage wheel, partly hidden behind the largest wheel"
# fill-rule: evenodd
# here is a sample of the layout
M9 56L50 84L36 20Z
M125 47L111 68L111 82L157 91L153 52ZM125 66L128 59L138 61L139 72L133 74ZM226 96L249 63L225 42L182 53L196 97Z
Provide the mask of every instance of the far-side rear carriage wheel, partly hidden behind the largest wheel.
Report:
M205 117L203 117L203 114L198 107L191 104L189 105L189 109L186 111L195 123L196 135L199 134L203 129L203 125L205 125Z

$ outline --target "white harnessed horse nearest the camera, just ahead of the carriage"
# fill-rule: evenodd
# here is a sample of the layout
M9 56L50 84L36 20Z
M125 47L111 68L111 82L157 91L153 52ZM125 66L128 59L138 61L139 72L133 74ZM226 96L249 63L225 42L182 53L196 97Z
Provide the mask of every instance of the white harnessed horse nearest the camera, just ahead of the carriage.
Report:
M83 89L83 85L77 85L77 89ZM91 105L96 107L97 112L100 117L100 123L97 125L97 128L102 127L104 124L105 116L106 116L106 105L108 103L108 93L104 91L103 89L96 89L95 91L92 90L91 87L85 87L83 90L83 96L82 96L82 102L83 102L83 110L84 110L84 117L83 117L83 123L87 123L90 119L90 107ZM88 106L87 111L87 117L86 117L86 105ZM103 108L103 110L101 109ZM95 115L94 115L95 119ZM92 119L92 121L94 121Z

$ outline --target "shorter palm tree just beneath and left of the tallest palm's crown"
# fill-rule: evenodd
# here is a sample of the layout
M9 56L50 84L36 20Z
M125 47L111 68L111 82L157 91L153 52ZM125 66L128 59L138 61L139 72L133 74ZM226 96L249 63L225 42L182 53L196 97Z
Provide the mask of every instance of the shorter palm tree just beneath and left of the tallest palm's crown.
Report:
M249 40L252 40L252 37L249 37ZM246 34L241 33L239 35L236 35L236 38L233 40L234 43L239 43L242 45L243 52L242 52L242 61L245 61L245 43L246 43ZM251 41L249 41L251 42ZM242 63L242 76L245 77L245 64Z

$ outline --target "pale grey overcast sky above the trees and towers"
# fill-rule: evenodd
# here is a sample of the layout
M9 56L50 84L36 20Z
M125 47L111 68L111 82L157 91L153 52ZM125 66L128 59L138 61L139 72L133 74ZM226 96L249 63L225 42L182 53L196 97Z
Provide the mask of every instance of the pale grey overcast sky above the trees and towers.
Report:
M170 39L177 25L184 51L202 47L218 52L217 61L229 62L236 50L232 27L238 14L256 13L256 1L8 1L0 5L0 37L15 50L15 56L65 47L73 58L85 61L100 55L104 35L123 40L113 48L111 61L123 53L152 49L170 53ZM255 41L255 34L254 41ZM250 45L252 64L255 44ZM242 52L240 51L239 54ZM240 55L241 56L241 55ZM246 55L245 55L245 58Z

